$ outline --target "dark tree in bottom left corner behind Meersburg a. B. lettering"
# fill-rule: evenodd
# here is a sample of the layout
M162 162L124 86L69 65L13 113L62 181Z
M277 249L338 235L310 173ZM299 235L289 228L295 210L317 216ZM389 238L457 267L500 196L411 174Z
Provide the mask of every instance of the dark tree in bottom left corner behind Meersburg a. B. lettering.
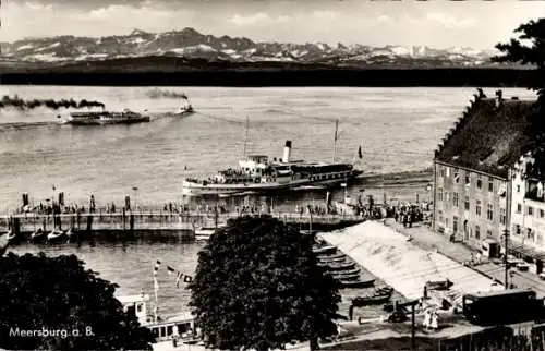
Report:
M123 312L113 298L117 286L86 270L75 255L10 253L0 258L0 348L150 349L152 332ZM17 329L61 334L17 336Z

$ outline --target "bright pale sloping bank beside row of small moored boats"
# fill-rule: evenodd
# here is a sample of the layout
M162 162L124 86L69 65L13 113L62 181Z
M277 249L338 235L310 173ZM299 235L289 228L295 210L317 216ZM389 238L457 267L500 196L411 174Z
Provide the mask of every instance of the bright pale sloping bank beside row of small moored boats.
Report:
M502 289L440 253L417 247L380 222L365 221L320 237L409 300L421 299L426 282L446 279L453 286L445 292L434 291L434 295L457 305L461 305L463 294Z

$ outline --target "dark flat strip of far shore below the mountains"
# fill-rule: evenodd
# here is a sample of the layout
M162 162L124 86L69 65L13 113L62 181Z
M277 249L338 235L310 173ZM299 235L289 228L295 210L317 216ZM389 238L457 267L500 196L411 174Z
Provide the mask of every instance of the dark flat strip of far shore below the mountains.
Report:
M533 70L118 65L0 69L3 85L225 87L525 87Z

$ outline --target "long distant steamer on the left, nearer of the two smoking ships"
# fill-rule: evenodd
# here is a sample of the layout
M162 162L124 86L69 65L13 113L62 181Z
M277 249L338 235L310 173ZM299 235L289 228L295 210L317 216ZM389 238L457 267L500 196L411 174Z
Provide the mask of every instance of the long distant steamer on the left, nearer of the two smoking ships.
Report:
M124 109L122 112L87 111L71 112L64 123L81 125L133 124L149 122L149 116Z

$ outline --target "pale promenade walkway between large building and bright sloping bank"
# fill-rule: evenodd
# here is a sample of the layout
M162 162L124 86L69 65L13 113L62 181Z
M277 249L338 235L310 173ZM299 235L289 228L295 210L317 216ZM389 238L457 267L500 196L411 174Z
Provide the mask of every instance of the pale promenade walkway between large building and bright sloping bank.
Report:
M422 223L414 223L412 228L404 228L402 223L398 223L391 218L386 219L384 222L386 226L396 229L404 235L411 235L411 242L413 244L425 250L436 250L458 263L469 262L471 253L476 253L476 250L472 250L461 243L450 242L444 234L434 233L427 226ZM472 268L504 283L504 265L484 262ZM519 288L532 288L537 293L538 298L545 296L545 281L541 280L537 275L530 271L519 271L514 268L511 268L510 271L510 282Z

